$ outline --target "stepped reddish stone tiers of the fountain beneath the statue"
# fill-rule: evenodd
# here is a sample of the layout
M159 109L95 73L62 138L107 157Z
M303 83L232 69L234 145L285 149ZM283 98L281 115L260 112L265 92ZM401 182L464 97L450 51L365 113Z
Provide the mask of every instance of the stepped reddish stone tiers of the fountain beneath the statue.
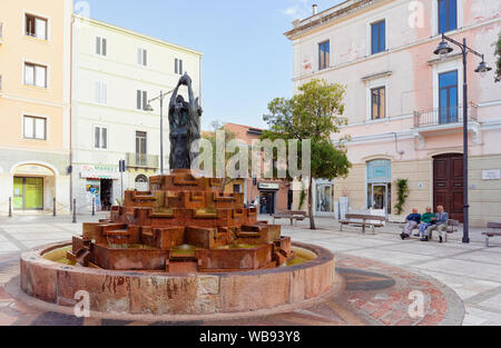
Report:
M153 177L150 192L127 191L109 220L85 223L68 259L84 267L166 274L279 267L294 259L281 227L257 221L243 193L189 170Z

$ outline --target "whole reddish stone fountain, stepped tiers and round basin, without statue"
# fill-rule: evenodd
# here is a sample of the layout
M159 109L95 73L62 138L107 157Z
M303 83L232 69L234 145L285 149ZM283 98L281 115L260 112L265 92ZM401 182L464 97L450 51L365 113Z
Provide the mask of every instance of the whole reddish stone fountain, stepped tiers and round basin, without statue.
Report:
M293 243L220 187L188 170L151 178L72 242L23 253L22 290L59 306L85 290L92 311L155 316L275 309L331 291L328 250Z

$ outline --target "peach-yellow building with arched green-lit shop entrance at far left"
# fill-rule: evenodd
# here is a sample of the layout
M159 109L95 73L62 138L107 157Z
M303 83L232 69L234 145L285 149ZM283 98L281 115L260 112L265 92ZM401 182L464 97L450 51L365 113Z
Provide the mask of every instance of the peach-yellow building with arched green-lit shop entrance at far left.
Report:
M72 1L0 1L0 213L68 211Z

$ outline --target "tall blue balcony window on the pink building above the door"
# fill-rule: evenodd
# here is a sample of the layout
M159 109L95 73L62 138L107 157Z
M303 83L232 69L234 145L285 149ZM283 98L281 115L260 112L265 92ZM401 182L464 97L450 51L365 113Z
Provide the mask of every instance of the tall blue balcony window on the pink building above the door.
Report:
M439 76L439 121L458 122L458 70Z

